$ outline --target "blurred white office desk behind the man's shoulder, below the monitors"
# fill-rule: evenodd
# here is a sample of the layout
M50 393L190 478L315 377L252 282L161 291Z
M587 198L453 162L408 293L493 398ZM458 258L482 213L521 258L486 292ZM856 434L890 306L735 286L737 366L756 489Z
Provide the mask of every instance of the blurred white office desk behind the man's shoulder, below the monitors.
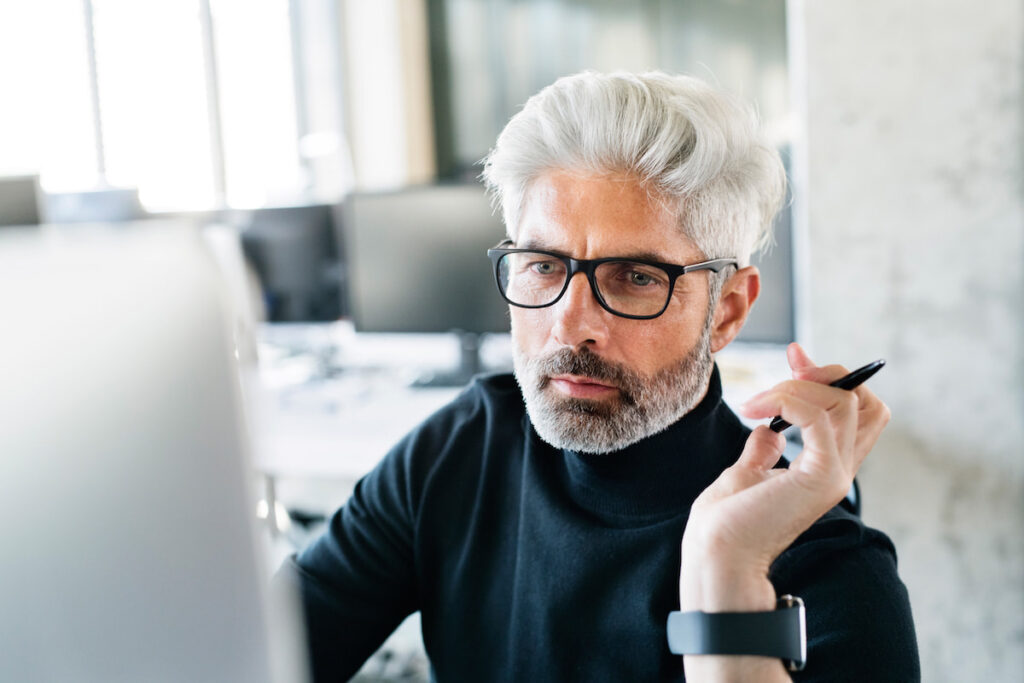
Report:
M244 373L260 515L276 535L283 510L332 512L354 483L461 387L412 388L459 358L454 335L356 335L344 323L268 325L259 367ZM486 344L488 367L511 365L507 335ZM281 496L279 497L279 494ZM301 541L299 539L298 541ZM297 541L297 542L298 542Z

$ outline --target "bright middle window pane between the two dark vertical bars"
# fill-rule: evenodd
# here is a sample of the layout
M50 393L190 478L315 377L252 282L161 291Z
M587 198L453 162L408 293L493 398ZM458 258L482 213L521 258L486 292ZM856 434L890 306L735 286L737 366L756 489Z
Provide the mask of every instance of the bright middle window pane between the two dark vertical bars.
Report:
M105 180L148 209L212 206L198 0L92 0Z

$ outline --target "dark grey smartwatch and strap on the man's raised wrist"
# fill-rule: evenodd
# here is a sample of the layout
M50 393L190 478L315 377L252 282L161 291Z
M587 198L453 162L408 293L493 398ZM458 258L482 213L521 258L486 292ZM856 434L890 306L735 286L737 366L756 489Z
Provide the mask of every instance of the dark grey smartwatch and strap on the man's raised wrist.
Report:
M779 657L790 671L807 660L804 601L778 599L771 612L672 612L669 649L674 654L757 654Z

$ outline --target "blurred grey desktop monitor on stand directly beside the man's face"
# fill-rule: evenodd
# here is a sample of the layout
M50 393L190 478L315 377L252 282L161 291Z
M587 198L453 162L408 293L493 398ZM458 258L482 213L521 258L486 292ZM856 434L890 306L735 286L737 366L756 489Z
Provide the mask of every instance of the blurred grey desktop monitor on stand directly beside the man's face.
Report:
M479 337L509 331L486 251L505 237L478 184L349 195L341 209L347 287L357 332L460 335L462 366L479 370Z

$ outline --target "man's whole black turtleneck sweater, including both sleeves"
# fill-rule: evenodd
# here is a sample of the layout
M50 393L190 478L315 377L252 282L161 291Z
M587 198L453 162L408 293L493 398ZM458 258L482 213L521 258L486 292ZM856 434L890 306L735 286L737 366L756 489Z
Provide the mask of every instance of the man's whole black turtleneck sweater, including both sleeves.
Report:
M315 681L348 679L416 610L437 681L683 680L666 640L683 528L749 433L717 369L682 420L603 456L548 445L510 375L478 378L282 570L300 587ZM920 679L883 533L836 508L770 578L807 606L808 664L795 680Z

